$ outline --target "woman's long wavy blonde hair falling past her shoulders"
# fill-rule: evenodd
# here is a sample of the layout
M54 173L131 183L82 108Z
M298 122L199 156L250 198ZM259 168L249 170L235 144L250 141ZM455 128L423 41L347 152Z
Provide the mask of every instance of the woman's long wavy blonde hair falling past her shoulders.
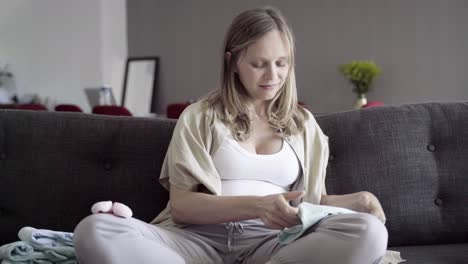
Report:
M307 113L297 102L293 35L278 10L255 8L240 13L229 27L224 40L221 87L207 98L221 120L229 125L236 140L249 138L253 118L252 106L247 100L249 95L235 72L236 64L249 45L272 30L278 30L289 44L289 72L283 87L269 102L268 120L282 137L304 129ZM225 55L227 52L230 57Z

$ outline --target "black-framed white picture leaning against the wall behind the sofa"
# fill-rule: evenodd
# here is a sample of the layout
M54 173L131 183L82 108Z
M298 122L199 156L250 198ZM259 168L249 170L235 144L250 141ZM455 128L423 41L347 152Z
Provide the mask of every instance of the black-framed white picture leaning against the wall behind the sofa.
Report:
M135 116L157 111L159 57L129 57L125 65L121 106Z

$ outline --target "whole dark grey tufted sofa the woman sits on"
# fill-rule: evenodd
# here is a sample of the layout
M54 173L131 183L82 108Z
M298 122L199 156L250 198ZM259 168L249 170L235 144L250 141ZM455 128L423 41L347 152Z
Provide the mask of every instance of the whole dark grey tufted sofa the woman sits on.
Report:
M330 138L330 194L374 193L408 264L468 263L468 103L316 117ZM174 120L0 110L0 244L23 226L72 231L100 200L150 221Z

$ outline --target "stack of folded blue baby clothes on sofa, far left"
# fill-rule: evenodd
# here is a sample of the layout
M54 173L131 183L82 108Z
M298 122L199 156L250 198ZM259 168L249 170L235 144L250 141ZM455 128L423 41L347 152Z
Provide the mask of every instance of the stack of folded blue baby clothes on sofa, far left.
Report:
M77 264L73 233L23 227L20 241L0 247L1 264Z

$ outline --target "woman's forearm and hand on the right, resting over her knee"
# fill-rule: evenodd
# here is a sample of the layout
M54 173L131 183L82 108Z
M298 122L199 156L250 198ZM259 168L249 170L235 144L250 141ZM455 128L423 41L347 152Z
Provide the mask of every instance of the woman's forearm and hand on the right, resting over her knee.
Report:
M322 195L321 205L348 208L357 212L376 216L383 223L386 221L382 205L370 192L356 192L345 195Z

